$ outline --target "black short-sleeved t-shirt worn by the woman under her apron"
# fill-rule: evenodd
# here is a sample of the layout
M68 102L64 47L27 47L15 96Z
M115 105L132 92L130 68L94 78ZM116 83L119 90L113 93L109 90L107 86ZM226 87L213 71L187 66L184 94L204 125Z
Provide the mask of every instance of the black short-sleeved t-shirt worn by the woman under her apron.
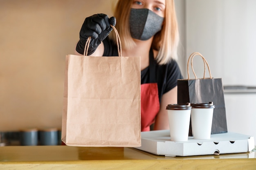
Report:
M106 38L103 40L103 56L118 56L117 45L112 40ZM149 52L150 64L141 71L141 84L157 83L159 102L161 103L162 95L177 86L177 79L182 79L180 68L175 60L167 64L158 65L154 59L152 49Z

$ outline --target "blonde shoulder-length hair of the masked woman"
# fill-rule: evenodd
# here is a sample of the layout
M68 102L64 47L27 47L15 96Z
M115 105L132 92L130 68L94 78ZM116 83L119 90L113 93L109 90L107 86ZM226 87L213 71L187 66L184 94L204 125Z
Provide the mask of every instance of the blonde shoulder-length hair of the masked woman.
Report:
M119 0L117 2L114 16L117 19L116 28L119 32L122 48L131 49L135 42L130 35L130 9L133 0ZM110 38L114 39L111 34ZM115 42L115 41L114 41ZM177 47L179 44L179 30L175 12L174 0L166 0L165 17L162 30L153 38L151 47L158 51L156 60L158 64L167 64L171 59L177 59Z

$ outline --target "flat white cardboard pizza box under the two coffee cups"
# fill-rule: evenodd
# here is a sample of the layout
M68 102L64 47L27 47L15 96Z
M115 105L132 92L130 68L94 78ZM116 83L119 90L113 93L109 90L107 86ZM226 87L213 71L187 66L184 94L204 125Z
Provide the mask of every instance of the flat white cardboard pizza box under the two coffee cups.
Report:
M171 141L169 130L141 132L139 150L166 157L192 155L219 155L226 153L250 152L255 148L254 137L234 132L211 135L211 139Z

